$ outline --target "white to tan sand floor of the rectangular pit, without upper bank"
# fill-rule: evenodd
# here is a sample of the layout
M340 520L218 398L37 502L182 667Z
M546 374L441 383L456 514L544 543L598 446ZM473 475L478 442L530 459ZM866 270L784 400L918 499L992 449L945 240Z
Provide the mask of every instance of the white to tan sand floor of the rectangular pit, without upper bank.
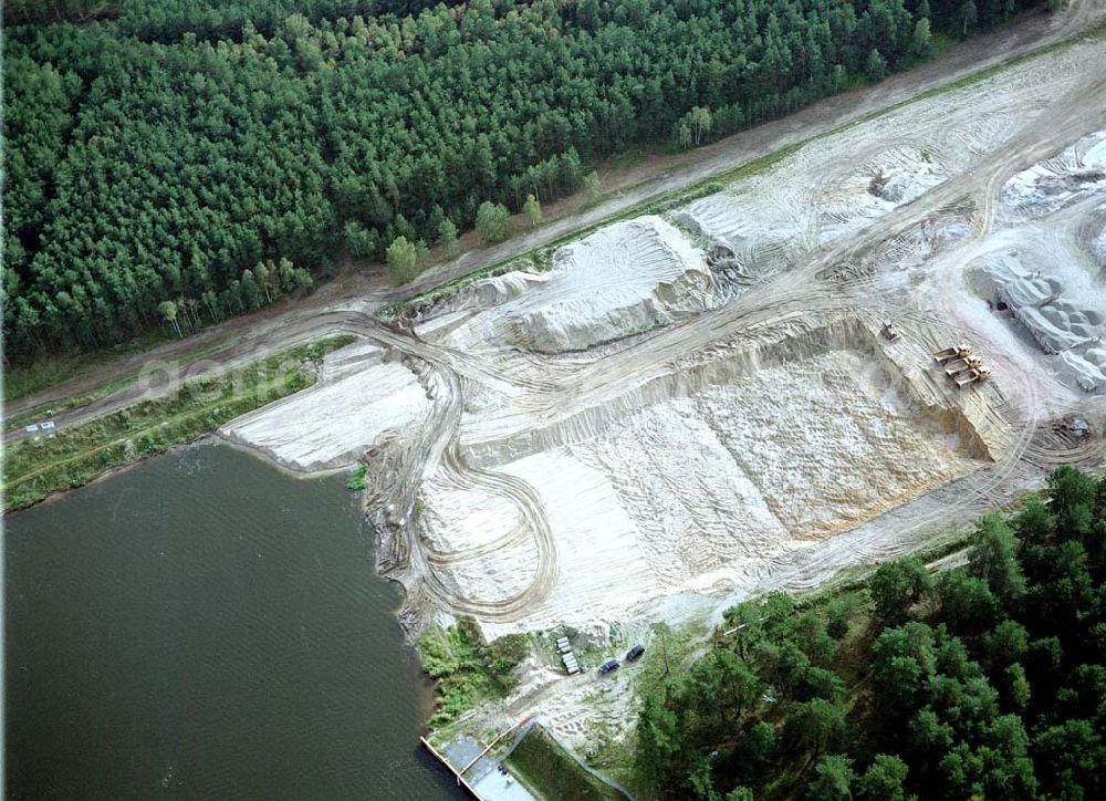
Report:
M497 466L538 492L557 576L519 621L487 627L583 624L664 595L752 589L773 559L973 469L956 436L919 414L879 360L830 351L731 371ZM439 481L424 491L429 542L460 551L518 524L501 502L462 500ZM449 568L451 581L463 575L480 600L507 597L532 574L534 554L511 548L466 560Z

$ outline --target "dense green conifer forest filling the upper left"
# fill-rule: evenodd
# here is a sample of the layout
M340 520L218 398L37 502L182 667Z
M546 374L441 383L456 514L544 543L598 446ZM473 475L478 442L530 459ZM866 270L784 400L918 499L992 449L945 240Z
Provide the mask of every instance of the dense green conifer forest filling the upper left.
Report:
M1033 4L9 2L8 355L257 309L343 253L572 193L633 143L726 135Z

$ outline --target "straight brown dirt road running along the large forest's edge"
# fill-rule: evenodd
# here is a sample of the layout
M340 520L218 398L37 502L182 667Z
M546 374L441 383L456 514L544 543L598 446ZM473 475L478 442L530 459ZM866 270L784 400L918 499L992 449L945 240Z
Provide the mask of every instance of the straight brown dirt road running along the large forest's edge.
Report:
M264 353L284 350L305 339L326 333L328 312L373 310L436 285L549 245L574 231L624 214L641 204L679 191L701 180L726 174L742 164L768 156L848 125L911 98L958 81L980 70L1002 64L1041 48L1077 37L1106 15L1100 0L1072 0L1057 14L1029 14L1001 31L960 43L933 62L894 75L874 86L830 97L791 116L764 123L712 145L678 156L648 158L629 169L601 173L608 193L602 202L580 209L580 198L568 198L546 208L543 227L502 245L462 254L452 262L428 270L400 289L388 287L380 266L346 271L310 298L285 301L255 314L229 320L186 340L169 342L146 353L122 358L94 375L63 382L6 405L9 416L86 394L97 386L139 373L152 363L181 365L197 352L206 357L178 367L189 377L215 375L252 361ZM220 343L227 343L220 349ZM60 425L74 425L128 406L156 393L158 387L131 386L102 400L56 416ZM23 433L11 431L3 441Z

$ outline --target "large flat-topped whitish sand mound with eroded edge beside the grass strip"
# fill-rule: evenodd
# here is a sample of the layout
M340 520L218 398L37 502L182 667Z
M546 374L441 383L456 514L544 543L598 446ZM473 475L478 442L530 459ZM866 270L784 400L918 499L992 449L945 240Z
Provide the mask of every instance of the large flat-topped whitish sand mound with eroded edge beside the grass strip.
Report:
M703 252L672 225L647 216L566 245L547 273L478 282L418 331L427 337L445 331L444 341L461 349L564 353L664 325L721 300Z

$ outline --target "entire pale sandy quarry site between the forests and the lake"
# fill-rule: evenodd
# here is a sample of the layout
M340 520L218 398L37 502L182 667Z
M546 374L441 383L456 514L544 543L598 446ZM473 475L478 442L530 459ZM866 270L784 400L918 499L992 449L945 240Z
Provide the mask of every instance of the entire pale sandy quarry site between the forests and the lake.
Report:
M411 626L644 631L1100 465L1104 319L1089 39L599 228L545 272L387 326L351 313L366 342L223 434L292 469L368 466ZM534 666L511 710L571 743L557 703L588 691Z

